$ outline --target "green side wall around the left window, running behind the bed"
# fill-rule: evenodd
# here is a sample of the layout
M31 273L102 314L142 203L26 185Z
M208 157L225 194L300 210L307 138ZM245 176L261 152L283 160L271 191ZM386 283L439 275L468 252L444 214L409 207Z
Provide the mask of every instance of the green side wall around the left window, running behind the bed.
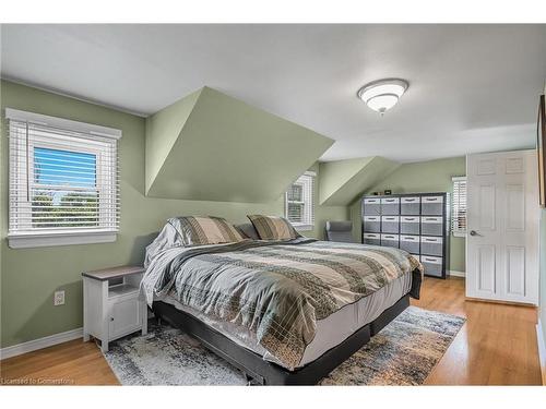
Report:
M145 120L143 118L5 81L2 81L0 86L2 125L4 125L4 108L10 107L117 128L123 132L119 145L121 220L117 241L104 244L13 250L8 246L5 239L8 137L2 127L0 136L2 147L0 346L2 348L81 327L81 273L115 265L142 263L144 246L170 216L217 215L234 222L244 222L247 221L246 215L249 213L283 213L284 203L281 197L265 204L146 197L144 196ZM319 166L316 164L311 169L319 171ZM345 206L317 206L316 228L305 234L320 238L325 220L343 220L347 217ZM67 291L64 305L54 306L52 294L57 289Z

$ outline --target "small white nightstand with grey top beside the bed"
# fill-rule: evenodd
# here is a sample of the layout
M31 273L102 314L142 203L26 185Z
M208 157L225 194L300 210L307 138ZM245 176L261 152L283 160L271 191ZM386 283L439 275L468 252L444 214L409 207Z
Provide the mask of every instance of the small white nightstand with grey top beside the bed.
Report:
M147 333L147 305L139 300L144 267L122 266L82 273L83 340L100 339L100 349L108 342L141 330Z

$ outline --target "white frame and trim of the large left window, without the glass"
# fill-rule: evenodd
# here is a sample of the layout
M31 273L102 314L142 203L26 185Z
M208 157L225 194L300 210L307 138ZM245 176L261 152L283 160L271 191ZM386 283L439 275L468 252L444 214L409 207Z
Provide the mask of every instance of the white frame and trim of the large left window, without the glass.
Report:
M78 143L75 146L70 146L70 137L67 136L67 141L69 142L67 145L63 145L62 136L59 136L59 140L44 141L37 139L36 141L23 141L24 136L16 135L14 140L10 140L9 144L9 172L10 172L10 181L13 179L16 180L17 192L12 192L11 182L9 189L9 197L10 197L10 206L9 206L9 232L8 232L8 242L10 248L12 249L24 249L24 248L37 248L37 246L49 246L49 245L68 245L68 244L88 244L88 243L104 243L104 242L112 242L117 239L118 227L116 222L114 222L115 227L107 226L112 217L119 217L119 207L112 208L112 199L114 206L117 205L118 195L119 195L119 187L118 184L118 143L122 136L121 130L90 124L85 122L72 121L68 119L49 117L34 112L21 111L12 108L5 108L5 119L10 121L9 125L9 135L12 136L12 127L11 121L14 122L26 122L44 125L48 128L56 128L67 132L74 132L75 139L79 137L82 140L81 143ZM17 127L17 125L14 125ZM27 131L28 132L28 128ZM112 152L112 157L109 158L111 166L106 166L104 160L105 155L109 156L110 154L106 154L105 152L105 139L115 140L114 146L115 151ZM12 145L13 143L13 145ZM28 143L28 146L26 144ZM20 149L23 144L24 148L27 148L28 154L26 156L17 155L17 159L13 160L12 149ZM95 146L93 146L95 144ZM102 146L103 145L103 146ZM93 154L95 155L95 188L98 194L98 197L106 197L106 202L108 206L105 206L105 201L97 201L97 227L67 227L67 228L33 228L32 221L28 221L28 226L26 222L21 224L21 219L19 216L15 216L19 213L16 205L32 207L32 199L27 197L27 194L24 193L25 190L32 190L36 185L35 172L34 172L34 148L41 147L47 149L56 149L56 151L68 151L74 153L84 153L84 154ZM106 169L108 168L108 169ZM23 169L23 171L19 171ZM13 172L16 175L14 176ZM100 180L100 182L99 182ZM21 189L21 187L23 189ZM75 187L70 187L73 189ZM86 188L82 188L82 190L90 190ZM103 192L103 193L102 193ZM105 194L104 192L109 192ZM17 197L17 195L23 195ZM15 200L13 200L15 196ZM21 208L21 207L20 207ZM23 209L24 212L24 209ZM28 210L32 214L32 210ZM16 225L16 228L13 229L13 225ZM21 227L23 226L23 227Z

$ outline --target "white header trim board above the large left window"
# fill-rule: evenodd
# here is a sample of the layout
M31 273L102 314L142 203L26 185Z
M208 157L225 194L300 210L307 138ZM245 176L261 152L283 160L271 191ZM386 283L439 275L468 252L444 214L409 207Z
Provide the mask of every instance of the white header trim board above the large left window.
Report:
M121 139L122 135L121 130L119 129L72 121L70 119L49 117L41 113L21 111L13 108L5 108L5 119L38 123L51 128L69 129L74 132L82 132L104 137L112 137L115 140Z

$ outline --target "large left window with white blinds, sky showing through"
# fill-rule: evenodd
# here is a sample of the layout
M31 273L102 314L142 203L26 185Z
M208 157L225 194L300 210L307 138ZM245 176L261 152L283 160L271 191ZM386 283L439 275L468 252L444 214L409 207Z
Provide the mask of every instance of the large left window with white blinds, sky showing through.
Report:
M121 131L10 108L5 118L10 246L116 240Z

